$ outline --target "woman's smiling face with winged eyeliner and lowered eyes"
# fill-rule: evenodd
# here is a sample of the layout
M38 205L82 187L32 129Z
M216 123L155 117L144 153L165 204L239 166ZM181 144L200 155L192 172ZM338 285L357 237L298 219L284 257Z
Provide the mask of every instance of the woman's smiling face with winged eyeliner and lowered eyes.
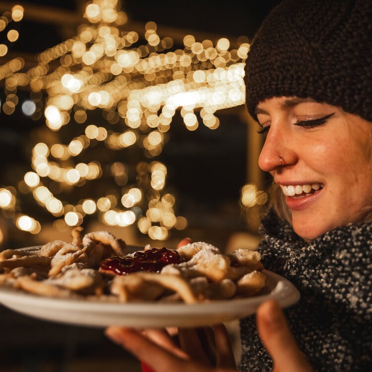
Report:
M256 113L266 134L258 164L281 186L299 236L363 219L372 202L371 123L297 97L267 99Z

